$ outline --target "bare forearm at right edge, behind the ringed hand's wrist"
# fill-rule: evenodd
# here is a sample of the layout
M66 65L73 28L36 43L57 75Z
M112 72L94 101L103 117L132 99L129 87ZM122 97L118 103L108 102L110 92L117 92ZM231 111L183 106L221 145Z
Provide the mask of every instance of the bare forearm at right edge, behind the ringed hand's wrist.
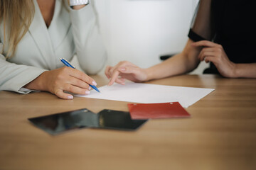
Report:
M256 63L235 64L233 78L256 78Z

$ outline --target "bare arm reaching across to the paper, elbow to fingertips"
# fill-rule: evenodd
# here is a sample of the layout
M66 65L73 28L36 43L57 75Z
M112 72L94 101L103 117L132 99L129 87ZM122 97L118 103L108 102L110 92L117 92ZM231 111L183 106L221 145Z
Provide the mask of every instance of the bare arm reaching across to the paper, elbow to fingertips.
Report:
M148 69L139 68L135 64L126 61L119 62L114 67L107 67L105 74L110 79L109 85L114 82L124 84L124 79L149 81L190 72L198 66L200 62L198 54L201 50L201 47L194 47L192 43L193 41L189 39L183 52Z

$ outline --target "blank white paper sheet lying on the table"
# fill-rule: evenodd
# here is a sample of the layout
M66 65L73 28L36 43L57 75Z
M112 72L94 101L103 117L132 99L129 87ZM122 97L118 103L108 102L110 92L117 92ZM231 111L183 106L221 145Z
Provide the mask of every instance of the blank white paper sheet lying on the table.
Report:
M89 95L77 96L113 101L128 101L132 103L167 103L178 101L181 106L187 108L214 91L214 89L139 84L133 82L127 82L125 85L114 84L112 86L102 86L99 90L100 93L91 90Z

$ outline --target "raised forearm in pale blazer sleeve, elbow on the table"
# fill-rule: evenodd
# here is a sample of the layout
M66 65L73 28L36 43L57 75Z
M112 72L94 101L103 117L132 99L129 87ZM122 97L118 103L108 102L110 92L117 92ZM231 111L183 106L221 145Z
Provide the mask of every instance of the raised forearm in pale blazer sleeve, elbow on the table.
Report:
M80 11L71 11L70 17L80 67L87 74L97 74L105 65L107 55L92 4Z

